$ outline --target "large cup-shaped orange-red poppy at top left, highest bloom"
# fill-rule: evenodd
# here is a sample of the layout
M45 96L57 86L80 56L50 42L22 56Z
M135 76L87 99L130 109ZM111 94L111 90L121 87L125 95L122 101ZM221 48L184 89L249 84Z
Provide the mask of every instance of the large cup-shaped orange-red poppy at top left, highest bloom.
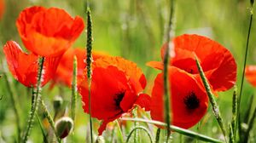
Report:
M16 26L26 49L47 57L64 54L83 31L84 21L63 9L34 6L20 13Z

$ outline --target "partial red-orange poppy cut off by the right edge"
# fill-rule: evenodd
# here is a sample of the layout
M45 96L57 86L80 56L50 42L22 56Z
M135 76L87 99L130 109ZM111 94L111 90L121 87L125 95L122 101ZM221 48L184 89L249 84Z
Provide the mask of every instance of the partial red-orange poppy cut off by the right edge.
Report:
M256 66L247 66L245 72L247 81L256 87Z

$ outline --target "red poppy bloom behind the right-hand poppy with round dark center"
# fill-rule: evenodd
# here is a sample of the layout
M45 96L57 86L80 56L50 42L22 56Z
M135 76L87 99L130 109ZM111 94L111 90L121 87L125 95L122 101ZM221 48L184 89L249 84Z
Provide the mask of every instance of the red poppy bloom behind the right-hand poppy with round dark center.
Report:
M170 65L200 78L195 64L195 55L201 63L209 83L214 91L225 91L236 83L236 61L228 49L207 37L184 34L173 39L174 56ZM167 47L161 49L161 57ZM151 61L148 66L162 70L162 62Z

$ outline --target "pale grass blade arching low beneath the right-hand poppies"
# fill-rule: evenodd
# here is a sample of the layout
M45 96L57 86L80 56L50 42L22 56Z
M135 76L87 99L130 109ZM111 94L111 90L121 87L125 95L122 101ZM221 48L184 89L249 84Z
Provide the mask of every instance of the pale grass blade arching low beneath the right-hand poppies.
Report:
M159 125L159 126L164 126L164 127L167 126L166 123L162 123L162 122L154 121L154 120L147 120L147 119L143 119L143 118L121 117L120 119L125 120L125 121L137 121L137 122L142 122L142 123L152 123L152 124ZM223 142L221 140L213 139L213 138L211 138L207 135L198 134L198 133L195 133L193 131L190 131L189 129L182 129L182 128L179 128L179 127L173 126L173 125L170 125L170 129L173 132L177 132L178 134L187 135L191 138L196 138L198 140L202 140L202 141L206 141L206 142L214 142L214 143Z

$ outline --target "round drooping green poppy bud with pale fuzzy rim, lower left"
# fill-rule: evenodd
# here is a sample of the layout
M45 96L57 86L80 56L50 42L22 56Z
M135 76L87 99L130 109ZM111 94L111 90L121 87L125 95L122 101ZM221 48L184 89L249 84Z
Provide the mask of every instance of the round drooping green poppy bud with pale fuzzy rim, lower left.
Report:
M73 120L70 117L61 117L55 123L56 135L65 138L73 130Z

